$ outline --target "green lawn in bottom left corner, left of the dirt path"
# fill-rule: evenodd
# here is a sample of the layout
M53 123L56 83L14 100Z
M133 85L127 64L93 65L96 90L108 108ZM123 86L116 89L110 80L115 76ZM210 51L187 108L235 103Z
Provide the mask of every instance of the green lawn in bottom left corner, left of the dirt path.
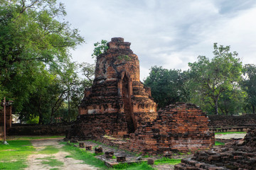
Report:
M9 145L0 144L0 169L26 168L26 158L35 149L28 140L10 140Z

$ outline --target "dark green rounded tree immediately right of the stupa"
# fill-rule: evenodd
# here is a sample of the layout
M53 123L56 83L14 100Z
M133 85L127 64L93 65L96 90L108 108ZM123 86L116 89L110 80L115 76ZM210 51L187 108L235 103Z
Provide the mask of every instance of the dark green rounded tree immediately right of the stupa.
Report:
M151 88L152 97L159 108L178 101L186 101L181 70L151 67L149 77L146 77L144 84Z

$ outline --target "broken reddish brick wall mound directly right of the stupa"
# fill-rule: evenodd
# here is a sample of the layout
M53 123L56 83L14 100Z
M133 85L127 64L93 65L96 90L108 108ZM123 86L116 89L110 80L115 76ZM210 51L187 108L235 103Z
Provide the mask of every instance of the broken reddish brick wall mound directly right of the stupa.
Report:
M123 148L156 155L195 152L213 144L214 134L209 131L206 114L193 104L177 103L159 111L152 123L139 127Z

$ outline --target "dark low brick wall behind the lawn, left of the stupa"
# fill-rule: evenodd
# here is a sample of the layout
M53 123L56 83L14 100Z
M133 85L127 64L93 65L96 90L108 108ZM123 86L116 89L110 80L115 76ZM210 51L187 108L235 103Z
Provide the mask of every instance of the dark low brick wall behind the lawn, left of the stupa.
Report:
M8 135L65 135L71 125L13 125L8 130Z

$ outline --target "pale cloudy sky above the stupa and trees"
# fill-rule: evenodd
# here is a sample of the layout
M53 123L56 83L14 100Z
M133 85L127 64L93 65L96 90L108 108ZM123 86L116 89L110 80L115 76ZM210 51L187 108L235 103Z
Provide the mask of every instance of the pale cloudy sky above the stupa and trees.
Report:
M256 64L255 0L63 0L85 44L72 51L90 62L93 43L122 37L138 55L141 80L149 69L188 69L198 55L213 57L213 43L230 45L243 64Z

